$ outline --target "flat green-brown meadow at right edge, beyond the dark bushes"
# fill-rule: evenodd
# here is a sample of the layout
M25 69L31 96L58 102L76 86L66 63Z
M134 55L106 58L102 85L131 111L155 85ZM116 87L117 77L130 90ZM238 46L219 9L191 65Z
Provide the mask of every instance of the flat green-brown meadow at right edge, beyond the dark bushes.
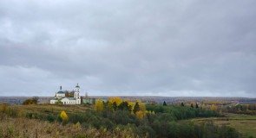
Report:
M212 120L216 125L227 125L237 129L244 136L256 137L256 116L225 113L223 117L209 117L191 119L193 122L207 122Z

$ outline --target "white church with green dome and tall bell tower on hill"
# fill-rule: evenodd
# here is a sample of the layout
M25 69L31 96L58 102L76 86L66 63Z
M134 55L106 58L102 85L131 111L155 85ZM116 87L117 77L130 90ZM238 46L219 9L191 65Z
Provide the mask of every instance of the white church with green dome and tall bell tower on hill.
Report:
M50 100L50 103L56 104L59 100L63 104L81 104L80 86L78 84L75 86L74 97L65 97L65 92L62 91L62 86L60 86L60 91L56 93L56 97Z

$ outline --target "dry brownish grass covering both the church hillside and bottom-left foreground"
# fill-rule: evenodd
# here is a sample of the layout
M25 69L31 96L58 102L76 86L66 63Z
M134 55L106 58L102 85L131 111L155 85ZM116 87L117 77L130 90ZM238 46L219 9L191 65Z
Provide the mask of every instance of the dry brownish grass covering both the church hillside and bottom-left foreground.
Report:
M18 105L10 106L18 110L16 117L10 117L0 112L0 137L35 137L35 138L64 138L64 137L136 137L131 129L86 128L80 123L49 122L45 116L57 116L65 110L67 114L86 113L91 106L85 105ZM27 118L26 113L33 113L37 119ZM44 116L44 118L42 118ZM36 118L36 117L35 117Z

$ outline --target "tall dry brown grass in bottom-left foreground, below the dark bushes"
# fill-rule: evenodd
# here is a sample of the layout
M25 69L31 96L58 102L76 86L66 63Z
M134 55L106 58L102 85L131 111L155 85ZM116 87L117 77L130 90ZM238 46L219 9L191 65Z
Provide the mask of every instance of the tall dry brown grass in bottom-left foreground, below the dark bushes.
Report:
M83 129L80 124L62 125L59 122L39 121L28 118L1 118L0 137L69 138L69 137L136 137L129 130Z

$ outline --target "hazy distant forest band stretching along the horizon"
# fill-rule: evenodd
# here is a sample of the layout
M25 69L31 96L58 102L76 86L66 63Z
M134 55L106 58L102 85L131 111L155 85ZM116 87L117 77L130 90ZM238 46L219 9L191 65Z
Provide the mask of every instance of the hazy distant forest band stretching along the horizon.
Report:
M73 91L65 91L67 94L66 97L73 97ZM54 97L54 96L53 96ZM114 97L114 96L113 96ZM26 99L31 97L0 97L0 102L4 103L15 103L22 104ZM47 103L52 97L39 97L38 103ZM108 100L108 98L112 98L110 96L88 96L89 99L102 98L102 100ZM166 101L168 104L175 104L181 101L194 101L195 103L205 103L205 104L215 104L221 103L222 105L226 105L228 103L244 103L244 104L253 104L256 103L256 98L250 97L150 97L150 96L121 96L122 100L136 101L141 100L141 103L163 103ZM85 96L82 96L82 99L85 99Z

